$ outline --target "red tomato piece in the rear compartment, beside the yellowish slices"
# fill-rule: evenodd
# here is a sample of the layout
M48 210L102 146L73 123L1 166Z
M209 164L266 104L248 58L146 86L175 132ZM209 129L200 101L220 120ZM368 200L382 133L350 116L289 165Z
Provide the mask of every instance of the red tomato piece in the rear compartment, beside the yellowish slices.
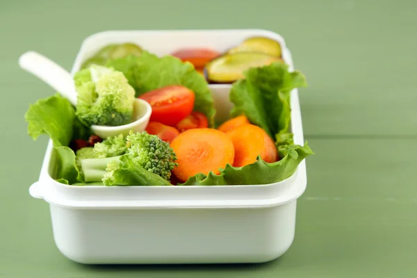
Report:
M214 58L220 56L220 53L212 49L205 48L185 48L179 49L171 54L177 58L180 58L183 62L190 62L197 67L204 67L206 63Z

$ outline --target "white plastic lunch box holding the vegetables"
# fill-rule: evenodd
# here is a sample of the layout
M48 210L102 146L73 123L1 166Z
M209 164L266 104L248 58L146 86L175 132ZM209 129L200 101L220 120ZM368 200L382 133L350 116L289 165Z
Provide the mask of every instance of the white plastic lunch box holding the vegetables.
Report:
M181 47L225 51L252 35L281 43L263 30L105 31L84 40L72 74L106 44L135 42L161 56ZM229 115L231 85L210 85L217 117ZM291 92L291 129L303 145L297 90ZM39 181L29 192L49 203L54 240L67 258L101 263L262 263L293 243L297 198L306 189L305 160L290 178L250 186L67 186L51 178L56 165L51 140Z

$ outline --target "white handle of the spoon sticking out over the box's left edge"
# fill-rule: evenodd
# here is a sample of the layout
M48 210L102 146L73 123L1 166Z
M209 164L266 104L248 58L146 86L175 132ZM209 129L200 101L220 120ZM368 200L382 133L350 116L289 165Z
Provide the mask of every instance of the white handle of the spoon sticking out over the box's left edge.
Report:
M22 69L38 76L39 79L50 85L60 95L76 105L76 90L74 81L69 72L49 58L35 51L28 51L19 57Z

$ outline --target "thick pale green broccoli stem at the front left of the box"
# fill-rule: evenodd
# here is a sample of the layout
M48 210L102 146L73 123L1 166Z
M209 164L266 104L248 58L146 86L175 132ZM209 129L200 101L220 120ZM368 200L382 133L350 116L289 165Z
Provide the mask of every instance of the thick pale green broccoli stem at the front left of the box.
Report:
M83 169L85 182L101 181L104 174L107 173L108 163L119 160L120 156L107 158L86 158L81 159L81 167Z

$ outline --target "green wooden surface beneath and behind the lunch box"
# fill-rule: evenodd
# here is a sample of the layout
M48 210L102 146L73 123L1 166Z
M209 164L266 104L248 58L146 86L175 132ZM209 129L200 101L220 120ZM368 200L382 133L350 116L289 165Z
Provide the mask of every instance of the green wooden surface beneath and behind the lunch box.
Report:
M243 3L0 2L0 277L416 277L417 2ZM307 159L295 241L259 265L73 263L54 245L47 203L28 195L47 138L33 142L23 115L54 91L17 58L33 49L70 70L91 33L181 28L277 31L306 74L300 101L316 156Z

